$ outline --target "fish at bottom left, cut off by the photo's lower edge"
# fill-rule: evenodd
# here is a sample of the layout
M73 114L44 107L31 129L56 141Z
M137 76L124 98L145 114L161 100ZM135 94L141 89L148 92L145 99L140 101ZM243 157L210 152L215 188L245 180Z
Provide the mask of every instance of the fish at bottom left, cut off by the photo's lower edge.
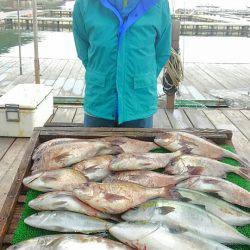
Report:
M7 250L131 250L130 247L102 237L84 234L48 235L23 241Z

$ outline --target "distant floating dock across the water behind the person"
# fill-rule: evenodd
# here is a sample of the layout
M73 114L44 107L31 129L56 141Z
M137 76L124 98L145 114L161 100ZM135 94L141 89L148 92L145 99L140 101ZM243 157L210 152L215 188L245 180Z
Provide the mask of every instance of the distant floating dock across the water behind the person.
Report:
M180 35L185 36L237 36L250 37L250 21L247 18L232 18L208 14L176 13L173 19L180 20ZM38 12L40 30L71 31L71 10L41 10ZM23 12L20 17L23 30L32 30L33 19L30 12ZM17 29L18 18L15 13L0 18L1 29Z

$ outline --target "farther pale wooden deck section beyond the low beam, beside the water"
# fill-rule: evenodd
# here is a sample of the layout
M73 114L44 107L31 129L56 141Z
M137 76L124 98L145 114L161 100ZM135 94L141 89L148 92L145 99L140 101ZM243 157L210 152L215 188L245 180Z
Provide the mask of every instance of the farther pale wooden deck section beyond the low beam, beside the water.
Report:
M55 96L83 96L84 67L79 60L41 59L41 83L52 86ZM0 95L20 83L33 83L31 58L23 59L23 75L19 75L17 58L0 57ZM185 63L185 79L179 99L213 99L211 89L249 89L250 64ZM159 96L163 94L158 86Z

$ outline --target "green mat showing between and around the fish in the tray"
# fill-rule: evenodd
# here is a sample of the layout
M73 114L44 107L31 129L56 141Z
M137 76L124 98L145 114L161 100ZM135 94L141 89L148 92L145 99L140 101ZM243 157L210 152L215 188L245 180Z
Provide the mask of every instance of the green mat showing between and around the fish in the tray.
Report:
M222 147L224 147L230 151L233 151L233 148L229 147L227 145L223 145ZM154 150L154 152L164 153L167 151L162 149L162 148L159 148L159 149ZM224 159L223 162L227 163L227 164L231 164L233 166L239 166L237 161L229 159L229 158ZM228 174L227 180L229 180L229 181L241 186L242 188L245 188L246 190L250 191L249 181L243 179L242 177L240 177L236 174L232 174L232 173ZM24 211L22 213L20 221L18 222L18 226L14 232L12 244L17 244L21 241L29 240L31 238L38 237L38 236L56 234L56 232L50 232L50 231L43 230L43 229L33 228L33 227L30 227L24 223L25 218L36 213L35 210L31 209L28 206L29 201L35 199L40 194L41 194L41 192L38 192L35 190L28 191L26 201L24 204ZM242 207L241 207L241 209L250 212L250 209L242 208ZM245 236L250 238L250 225L246 225L244 227L237 227L237 230L240 233L242 233ZM236 249L236 250L249 250L249 246L242 246L242 245L230 246L230 248Z

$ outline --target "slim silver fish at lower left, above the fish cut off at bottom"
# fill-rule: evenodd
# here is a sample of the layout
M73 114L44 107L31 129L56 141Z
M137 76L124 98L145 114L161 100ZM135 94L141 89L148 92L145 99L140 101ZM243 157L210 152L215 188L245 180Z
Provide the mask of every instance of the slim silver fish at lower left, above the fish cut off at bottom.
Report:
M62 233L105 232L113 224L105 220L69 211L43 211L32 214L24 223L35 228Z

